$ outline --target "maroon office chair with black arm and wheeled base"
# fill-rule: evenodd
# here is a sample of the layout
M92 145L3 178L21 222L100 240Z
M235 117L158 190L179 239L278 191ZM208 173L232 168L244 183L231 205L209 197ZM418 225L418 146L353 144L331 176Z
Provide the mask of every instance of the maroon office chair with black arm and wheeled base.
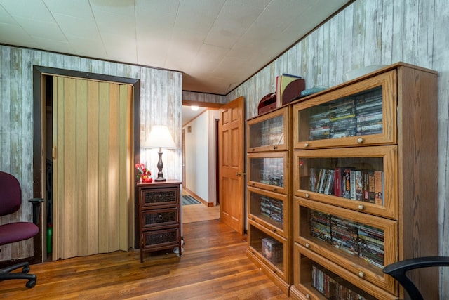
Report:
M0 246L4 244L10 244L12 242L20 242L22 240L28 240L39 233L39 228L36 226L39 216L39 206L42 199L36 198L29 200L33 204L33 222L15 222L6 223L0 225ZM22 190L20 189L20 183L11 174L0 171L0 216L6 216L13 214L20 209L22 204ZM18 268L22 268L22 271L12 272ZM36 275L28 274L29 263L27 261L17 263L13 266L0 269L0 281L9 279L27 279L25 284L31 288L36 285Z

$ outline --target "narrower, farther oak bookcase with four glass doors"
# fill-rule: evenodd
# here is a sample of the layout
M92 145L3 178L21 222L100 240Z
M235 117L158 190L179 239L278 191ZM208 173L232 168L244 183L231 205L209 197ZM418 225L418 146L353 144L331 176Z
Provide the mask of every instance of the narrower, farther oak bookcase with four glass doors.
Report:
M246 122L247 256L286 294L293 282L290 108Z

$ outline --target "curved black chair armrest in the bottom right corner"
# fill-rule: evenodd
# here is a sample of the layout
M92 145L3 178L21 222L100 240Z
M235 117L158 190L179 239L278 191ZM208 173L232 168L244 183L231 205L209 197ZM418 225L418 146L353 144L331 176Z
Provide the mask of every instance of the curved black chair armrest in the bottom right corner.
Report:
M402 285L408 296L410 296L410 299L424 300L415 284L407 277L406 272L417 268L443 266L449 266L449 256L426 256L415 259L404 259L403 261L398 261L385 266L383 271L385 274L391 275L394 279L398 280L399 284Z

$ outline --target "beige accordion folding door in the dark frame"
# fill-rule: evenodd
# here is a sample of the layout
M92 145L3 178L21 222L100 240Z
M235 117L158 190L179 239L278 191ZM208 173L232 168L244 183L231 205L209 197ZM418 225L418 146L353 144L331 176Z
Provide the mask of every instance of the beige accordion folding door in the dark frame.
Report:
M53 77L53 260L132 245L132 93Z

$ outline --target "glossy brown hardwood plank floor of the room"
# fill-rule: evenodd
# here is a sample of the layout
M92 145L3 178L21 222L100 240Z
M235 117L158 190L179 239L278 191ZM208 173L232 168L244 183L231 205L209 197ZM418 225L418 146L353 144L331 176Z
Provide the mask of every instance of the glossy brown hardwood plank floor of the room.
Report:
M0 282L0 299L288 299L246 258L246 237L219 220L183 225L185 252L138 250L32 265L36 286Z

